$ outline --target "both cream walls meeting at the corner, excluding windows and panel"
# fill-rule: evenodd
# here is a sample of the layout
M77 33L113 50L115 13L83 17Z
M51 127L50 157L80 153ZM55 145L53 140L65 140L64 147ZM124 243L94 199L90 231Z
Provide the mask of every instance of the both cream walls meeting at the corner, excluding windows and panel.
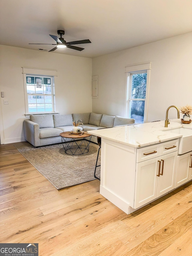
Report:
M94 59L0 45L1 144L24 140L22 67L58 70L56 111L124 116L125 66L151 61L148 122L164 120L170 105L192 105L192 33ZM92 67L91 67L92 62ZM99 75L99 98L91 99L92 75ZM3 100L9 104L4 105ZM176 110L169 110L176 118Z

